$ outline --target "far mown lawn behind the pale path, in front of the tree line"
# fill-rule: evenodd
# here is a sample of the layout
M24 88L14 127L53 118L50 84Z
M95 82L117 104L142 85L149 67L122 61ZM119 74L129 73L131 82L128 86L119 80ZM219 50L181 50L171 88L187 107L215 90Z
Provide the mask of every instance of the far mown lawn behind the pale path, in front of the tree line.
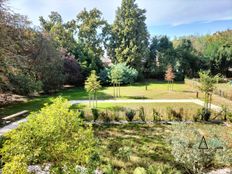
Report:
M168 84L165 81L150 81L147 83L148 88L145 90L145 83L135 83L133 85L120 87L121 97L119 99L191 99L196 98L196 89L184 84L183 82L174 83L173 91L168 90ZM112 99L114 93L113 87L104 87L98 92L98 99ZM0 117L22 110L37 111L44 103L50 102L53 97L62 96L68 100L87 100L88 93L84 88L64 89L53 95L42 95L27 102L12 104L0 108ZM203 94L199 94L203 99ZM222 97L214 96L213 103L217 105L227 105L232 107L232 101ZM163 105L163 104L162 104ZM181 104L180 104L181 106Z

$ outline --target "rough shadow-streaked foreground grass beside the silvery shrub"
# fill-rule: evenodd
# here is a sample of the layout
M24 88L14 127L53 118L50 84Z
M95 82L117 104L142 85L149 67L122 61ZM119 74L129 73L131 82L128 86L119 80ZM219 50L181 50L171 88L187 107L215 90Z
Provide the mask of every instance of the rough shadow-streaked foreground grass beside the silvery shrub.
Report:
M105 168L110 164L115 173L122 171L133 173L136 167L148 169L150 165L168 164L184 172L183 168L175 163L170 143L167 141L174 128L175 126L159 124L95 125L95 136L99 140L101 154L100 168ZM196 128L202 135L205 135L206 140L214 135L220 136L228 142L229 148L232 148L231 127L189 125L188 129L192 128ZM131 152L129 159L124 159L124 155L118 153L120 148L125 147Z

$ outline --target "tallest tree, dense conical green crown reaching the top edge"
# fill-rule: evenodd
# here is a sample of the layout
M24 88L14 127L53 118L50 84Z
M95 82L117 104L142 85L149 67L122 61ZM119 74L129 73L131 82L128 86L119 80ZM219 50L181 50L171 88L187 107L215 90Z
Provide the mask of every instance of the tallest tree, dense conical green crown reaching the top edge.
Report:
M118 63L126 62L137 70L140 70L141 60L148 53L149 34L145 12L135 0L122 0L121 7L116 12L110 40L110 46L113 47L109 50L111 59Z

